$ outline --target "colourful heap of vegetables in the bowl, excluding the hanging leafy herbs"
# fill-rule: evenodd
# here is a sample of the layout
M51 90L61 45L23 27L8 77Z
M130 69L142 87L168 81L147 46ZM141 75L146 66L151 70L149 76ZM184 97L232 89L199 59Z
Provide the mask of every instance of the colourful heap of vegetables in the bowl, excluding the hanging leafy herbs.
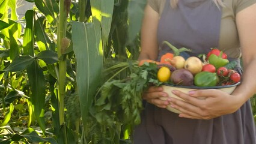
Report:
M174 53L166 53L160 62L149 61L159 66L162 64L157 72L160 82L182 86L222 86L240 82L240 74L234 70L237 62L228 61L221 50L212 49L201 59L197 56L184 58L180 53L188 49L177 49L167 41L163 43L168 44Z

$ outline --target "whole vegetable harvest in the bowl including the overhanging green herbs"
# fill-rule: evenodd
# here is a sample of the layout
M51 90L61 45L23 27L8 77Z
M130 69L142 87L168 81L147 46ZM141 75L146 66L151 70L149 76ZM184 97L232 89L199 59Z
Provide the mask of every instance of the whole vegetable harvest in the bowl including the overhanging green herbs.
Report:
M98 122L105 125L139 124L144 109L142 94L150 86L163 83L182 86L220 86L240 81L240 74L233 70L236 62L229 62L227 55L212 49L204 60L189 56L186 48L177 49L167 41L174 53L166 53L160 61L115 62L103 71L108 77L99 88L91 109ZM126 75L120 78L121 75Z

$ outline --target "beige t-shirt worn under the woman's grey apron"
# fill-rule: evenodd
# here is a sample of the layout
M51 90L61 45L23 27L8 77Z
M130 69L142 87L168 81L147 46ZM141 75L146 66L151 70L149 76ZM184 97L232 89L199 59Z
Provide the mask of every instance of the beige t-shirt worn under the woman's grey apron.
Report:
M161 15L166 1L169 0L148 0L148 4ZM239 58L241 52L236 27L236 14L244 8L255 4L256 0L224 0L223 2L226 7L222 8L218 48L227 53L230 58Z

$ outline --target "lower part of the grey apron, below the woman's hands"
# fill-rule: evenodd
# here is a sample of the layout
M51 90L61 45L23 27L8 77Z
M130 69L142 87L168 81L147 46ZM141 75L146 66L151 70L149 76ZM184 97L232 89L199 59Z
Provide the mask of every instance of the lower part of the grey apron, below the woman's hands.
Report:
M255 144L250 101L237 112L210 120L187 119L147 103L135 127L135 144Z

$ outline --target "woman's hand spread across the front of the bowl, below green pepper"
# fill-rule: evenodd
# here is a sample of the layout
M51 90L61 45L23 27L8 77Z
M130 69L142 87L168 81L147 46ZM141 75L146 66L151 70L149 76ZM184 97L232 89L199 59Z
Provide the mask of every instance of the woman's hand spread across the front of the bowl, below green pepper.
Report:
M179 116L183 118L212 119L236 112L243 104L236 96L218 89L200 89L190 91L189 94L175 90L172 93L184 100L169 99L171 107L180 110Z

